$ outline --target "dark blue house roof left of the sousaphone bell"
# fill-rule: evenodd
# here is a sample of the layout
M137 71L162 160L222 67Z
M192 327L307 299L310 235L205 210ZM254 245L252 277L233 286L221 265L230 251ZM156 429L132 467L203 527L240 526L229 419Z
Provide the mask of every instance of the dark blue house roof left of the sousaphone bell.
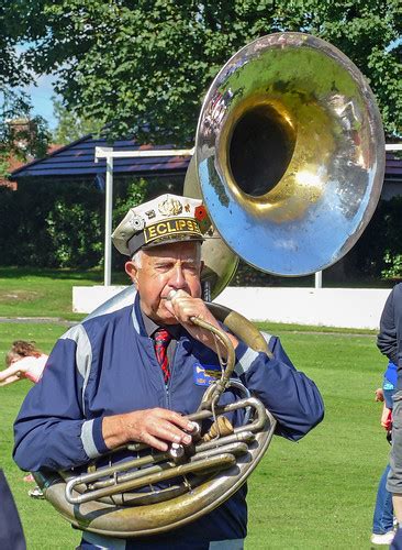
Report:
M113 146L114 151L171 148L170 145L138 145L134 140L121 140L110 144L105 139L92 139L92 135L89 134L64 147L53 151L45 158L33 161L32 163L21 166L11 173L10 179L15 182L32 177L41 177L42 179L92 179L105 173L105 160L100 158L98 163L94 162L94 148L98 146ZM114 158L113 174L115 176L185 175L189 162L189 157L179 156Z

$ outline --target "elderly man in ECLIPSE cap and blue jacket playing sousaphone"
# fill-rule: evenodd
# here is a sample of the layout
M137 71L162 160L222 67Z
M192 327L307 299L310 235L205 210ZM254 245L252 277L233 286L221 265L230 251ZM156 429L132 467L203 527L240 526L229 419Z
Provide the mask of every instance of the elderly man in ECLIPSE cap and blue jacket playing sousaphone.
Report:
M114 231L114 244L131 257L125 271L137 289L134 304L83 321L56 343L15 422L14 458L23 470L77 469L131 441L160 451L191 443L187 416L209 384L196 369L219 367L211 332L191 322L198 317L220 327L201 299L203 216L201 201L166 195L131 209ZM321 421L316 386L278 338L269 341L272 358L230 339L234 376L276 417L278 435L295 441ZM245 496L244 485L163 537L122 541L83 532L81 548L242 549Z

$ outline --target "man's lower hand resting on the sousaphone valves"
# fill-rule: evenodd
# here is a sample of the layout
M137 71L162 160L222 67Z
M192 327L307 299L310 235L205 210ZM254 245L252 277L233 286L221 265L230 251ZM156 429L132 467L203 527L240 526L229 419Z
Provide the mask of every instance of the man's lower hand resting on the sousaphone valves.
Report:
M154 408L104 417L102 436L109 449L136 441L159 451L167 451L170 443L191 443L193 424L172 410Z

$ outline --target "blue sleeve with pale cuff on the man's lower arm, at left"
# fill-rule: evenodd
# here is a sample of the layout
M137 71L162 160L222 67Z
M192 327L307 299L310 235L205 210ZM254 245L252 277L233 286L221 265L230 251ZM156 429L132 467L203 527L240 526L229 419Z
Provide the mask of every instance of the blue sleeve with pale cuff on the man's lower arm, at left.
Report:
M42 380L25 397L14 424L13 457L22 470L69 469L103 451L101 419L85 418L85 375L76 360L77 341L58 340Z

